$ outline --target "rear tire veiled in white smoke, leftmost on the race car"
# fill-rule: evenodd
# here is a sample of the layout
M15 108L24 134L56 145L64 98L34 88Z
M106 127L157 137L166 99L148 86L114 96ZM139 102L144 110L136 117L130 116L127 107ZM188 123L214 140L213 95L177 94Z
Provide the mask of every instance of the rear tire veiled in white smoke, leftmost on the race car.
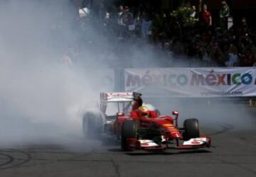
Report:
M102 135L102 122L97 113L85 113L82 118L82 131L89 139L100 139Z

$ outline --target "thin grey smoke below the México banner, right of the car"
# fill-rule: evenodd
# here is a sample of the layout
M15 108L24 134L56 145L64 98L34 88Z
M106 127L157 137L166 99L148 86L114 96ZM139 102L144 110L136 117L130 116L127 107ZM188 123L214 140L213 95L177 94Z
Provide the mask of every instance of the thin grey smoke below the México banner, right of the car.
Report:
M246 98L146 98L145 102L156 105L163 115L178 110L179 127L185 119L198 119L202 135L255 129L255 108L249 108Z

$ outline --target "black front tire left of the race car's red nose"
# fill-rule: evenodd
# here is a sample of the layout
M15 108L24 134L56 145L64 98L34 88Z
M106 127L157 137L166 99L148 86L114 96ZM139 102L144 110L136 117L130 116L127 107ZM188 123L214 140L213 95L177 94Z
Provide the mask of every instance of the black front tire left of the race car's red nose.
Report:
M121 130L121 149L127 151L127 138L137 138L137 126L134 120L124 120Z

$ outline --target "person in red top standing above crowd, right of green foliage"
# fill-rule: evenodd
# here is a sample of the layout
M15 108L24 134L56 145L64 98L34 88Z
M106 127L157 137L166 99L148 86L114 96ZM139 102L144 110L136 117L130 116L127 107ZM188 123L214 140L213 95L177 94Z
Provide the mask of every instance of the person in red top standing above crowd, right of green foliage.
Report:
M208 11L208 7L206 4L203 4L202 6L202 0L199 0L199 13L199 22L201 23L201 25L205 27L210 27L212 25L211 13L210 11Z

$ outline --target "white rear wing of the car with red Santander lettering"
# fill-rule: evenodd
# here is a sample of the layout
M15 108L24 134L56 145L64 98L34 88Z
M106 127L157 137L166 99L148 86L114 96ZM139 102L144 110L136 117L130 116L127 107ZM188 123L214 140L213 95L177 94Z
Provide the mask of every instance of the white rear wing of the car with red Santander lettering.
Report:
M100 93L100 110L105 113L107 102L132 102L137 100L142 93L136 92L102 92Z

